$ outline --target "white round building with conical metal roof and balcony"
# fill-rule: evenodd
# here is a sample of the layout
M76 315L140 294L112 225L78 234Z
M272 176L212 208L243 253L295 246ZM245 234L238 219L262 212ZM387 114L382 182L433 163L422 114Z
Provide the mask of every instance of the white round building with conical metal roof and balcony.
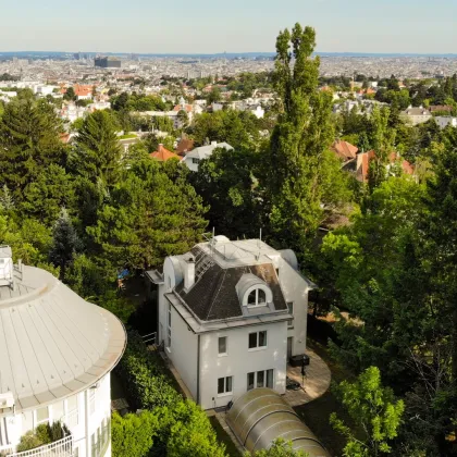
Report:
M8 279L10 262L0 246L0 456L110 457L110 372L125 348L123 324L45 270L14 265ZM22 435L57 420L70 436L16 453Z

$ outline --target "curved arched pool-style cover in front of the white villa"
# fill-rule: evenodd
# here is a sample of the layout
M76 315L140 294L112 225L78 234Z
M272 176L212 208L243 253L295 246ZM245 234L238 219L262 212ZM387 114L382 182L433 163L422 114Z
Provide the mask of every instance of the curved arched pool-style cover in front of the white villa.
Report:
M226 421L239 443L251 453L268 449L281 437L291 441L294 450L310 457L330 457L294 409L271 388L254 388L242 395L227 412Z

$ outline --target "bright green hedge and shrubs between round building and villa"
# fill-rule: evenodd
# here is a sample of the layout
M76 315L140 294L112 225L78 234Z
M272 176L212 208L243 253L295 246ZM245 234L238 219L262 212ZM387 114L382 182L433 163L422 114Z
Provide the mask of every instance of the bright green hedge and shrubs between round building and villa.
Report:
M131 403L149 411L113 416L113 457L226 455L206 412L174 390L163 360L147 350L137 333L128 334L128 345L116 371Z

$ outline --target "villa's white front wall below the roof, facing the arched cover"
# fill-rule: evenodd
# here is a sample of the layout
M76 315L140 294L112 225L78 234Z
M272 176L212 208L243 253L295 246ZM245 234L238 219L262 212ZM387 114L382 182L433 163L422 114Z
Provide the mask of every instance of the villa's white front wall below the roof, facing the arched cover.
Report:
M287 323L276 322L206 333L200 336L200 405L225 406L247 392L247 373L274 369L274 390L285 393ZM249 349L248 335L267 330L267 348ZM227 336L227 355L219 356L219 337ZM218 396L218 379L233 376L233 393ZM214 400L213 400L214 398Z

